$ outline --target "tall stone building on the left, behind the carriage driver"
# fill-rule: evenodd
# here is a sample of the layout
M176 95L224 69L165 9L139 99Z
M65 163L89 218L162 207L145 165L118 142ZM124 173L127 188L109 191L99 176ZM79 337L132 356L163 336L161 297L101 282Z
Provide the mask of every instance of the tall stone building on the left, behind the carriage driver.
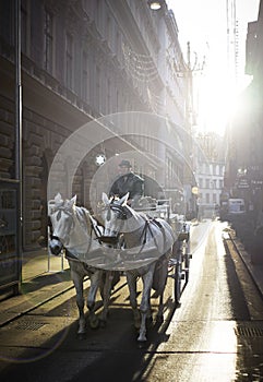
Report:
M153 196L182 188L187 85L176 73L182 64L166 4L155 13L146 0L0 1L0 184L22 188L23 251L47 235L52 192L76 193L93 208L91 198L107 191L120 157L152 181ZM106 158L100 167L97 155ZM0 218L10 223L2 207Z

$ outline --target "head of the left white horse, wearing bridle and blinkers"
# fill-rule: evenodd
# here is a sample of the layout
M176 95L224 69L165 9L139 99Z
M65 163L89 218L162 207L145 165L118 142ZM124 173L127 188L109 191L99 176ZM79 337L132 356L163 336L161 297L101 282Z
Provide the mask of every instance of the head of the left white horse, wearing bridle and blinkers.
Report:
M75 201L76 196L63 201L61 195L57 194L55 203L50 207L49 216L52 225L50 244L56 251L58 250L59 242L61 246L67 246L70 241L70 234L74 227Z

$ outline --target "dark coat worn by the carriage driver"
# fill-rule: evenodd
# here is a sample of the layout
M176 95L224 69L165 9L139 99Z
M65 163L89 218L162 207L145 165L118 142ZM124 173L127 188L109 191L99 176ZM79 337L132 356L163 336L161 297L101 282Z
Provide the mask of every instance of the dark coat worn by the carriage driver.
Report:
M144 180L133 172L122 175L116 179L109 191L109 196L122 198L129 192L129 199L136 199L143 195Z

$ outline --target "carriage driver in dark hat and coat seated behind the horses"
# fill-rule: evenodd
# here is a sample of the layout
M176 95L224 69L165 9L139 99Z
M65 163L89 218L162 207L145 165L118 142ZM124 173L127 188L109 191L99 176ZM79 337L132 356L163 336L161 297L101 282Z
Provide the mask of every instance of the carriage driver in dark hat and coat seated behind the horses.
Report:
M109 196L122 198L129 192L128 204L133 207L143 195L144 180L131 170L129 160L119 164L119 176L110 188Z

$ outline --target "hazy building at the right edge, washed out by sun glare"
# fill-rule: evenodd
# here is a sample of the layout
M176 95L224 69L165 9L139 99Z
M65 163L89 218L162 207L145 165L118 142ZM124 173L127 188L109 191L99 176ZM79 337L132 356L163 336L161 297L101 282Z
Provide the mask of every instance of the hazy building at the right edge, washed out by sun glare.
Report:
M248 24L246 74L250 85L239 99L238 111L229 127L225 183L229 194L243 198L253 211L256 225L263 207L263 4L258 21ZM251 224L248 223L248 224Z

